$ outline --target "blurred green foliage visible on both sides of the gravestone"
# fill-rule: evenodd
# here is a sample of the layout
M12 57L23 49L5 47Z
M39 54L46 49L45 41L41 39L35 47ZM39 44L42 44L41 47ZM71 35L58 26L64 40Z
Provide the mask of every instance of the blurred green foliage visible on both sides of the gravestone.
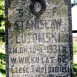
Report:
M73 59L74 77L77 77L77 40L75 38L73 38ZM0 0L0 77L6 77L5 68L5 2Z

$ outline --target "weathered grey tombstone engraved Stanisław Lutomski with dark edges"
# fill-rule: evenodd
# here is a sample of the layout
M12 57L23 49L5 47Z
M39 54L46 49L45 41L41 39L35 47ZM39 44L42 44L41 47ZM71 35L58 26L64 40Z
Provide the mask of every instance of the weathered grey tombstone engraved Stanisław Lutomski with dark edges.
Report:
M73 77L70 0L6 0L7 77Z

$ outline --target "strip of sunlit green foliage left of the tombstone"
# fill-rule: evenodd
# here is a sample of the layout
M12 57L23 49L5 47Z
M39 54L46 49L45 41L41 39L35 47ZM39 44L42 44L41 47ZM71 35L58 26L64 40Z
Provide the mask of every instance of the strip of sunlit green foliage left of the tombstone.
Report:
M5 5L4 0L0 0L0 77L5 77Z

